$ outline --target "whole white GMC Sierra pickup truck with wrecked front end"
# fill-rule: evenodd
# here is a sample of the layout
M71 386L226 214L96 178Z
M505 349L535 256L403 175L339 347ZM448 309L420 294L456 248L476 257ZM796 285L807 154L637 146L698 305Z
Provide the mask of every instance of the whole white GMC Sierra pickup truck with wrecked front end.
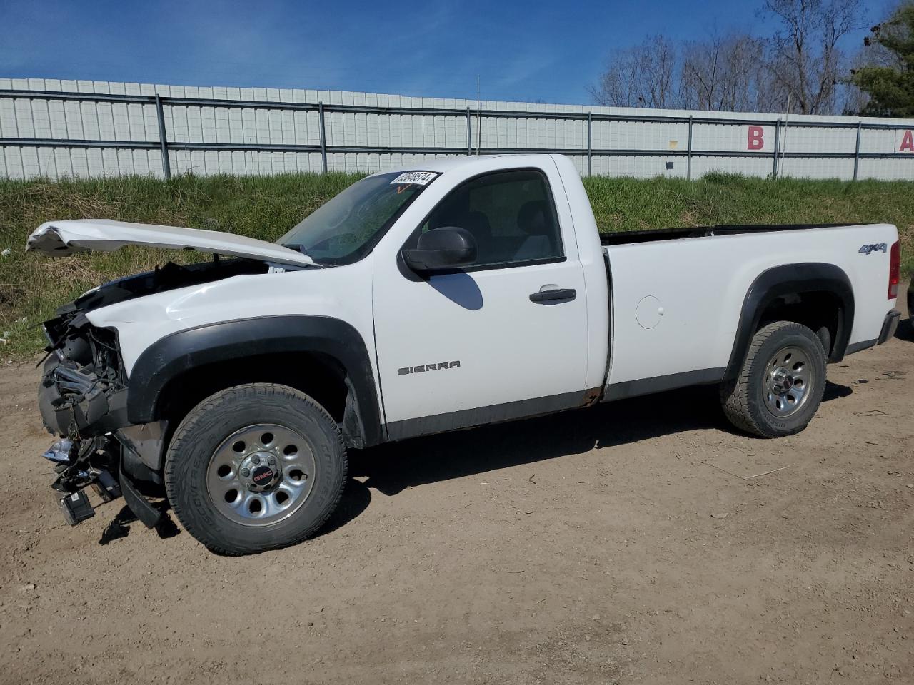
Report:
M221 553L314 533L347 448L697 384L719 385L739 429L795 433L825 364L898 322L893 226L600 236L555 155L373 174L275 244L87 220L48 222L27 248L125 245L216 257L113 281L45 323L55 487L70 522L92 485L153 525L141 490L164 485Z

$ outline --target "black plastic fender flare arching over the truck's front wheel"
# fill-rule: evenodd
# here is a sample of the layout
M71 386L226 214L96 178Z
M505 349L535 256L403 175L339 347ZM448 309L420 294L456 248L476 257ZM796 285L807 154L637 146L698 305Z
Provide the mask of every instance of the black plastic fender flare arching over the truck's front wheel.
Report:
M128 381L127 418L145 424L161 416L165 387L206 364L275 353L321 353L345 371L355 401L356 426L344 427L353 447L384 441L367 346L356 329L327 316L279 315L220 321L166 335L140 354Z

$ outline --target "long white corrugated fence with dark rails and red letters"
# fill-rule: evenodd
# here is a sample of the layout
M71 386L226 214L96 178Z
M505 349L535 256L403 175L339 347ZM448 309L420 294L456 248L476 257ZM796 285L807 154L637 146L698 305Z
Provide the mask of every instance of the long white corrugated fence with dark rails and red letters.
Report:
M477 151L563 153L581 174L914 180L914 120L0 79L0 178L375 172Z

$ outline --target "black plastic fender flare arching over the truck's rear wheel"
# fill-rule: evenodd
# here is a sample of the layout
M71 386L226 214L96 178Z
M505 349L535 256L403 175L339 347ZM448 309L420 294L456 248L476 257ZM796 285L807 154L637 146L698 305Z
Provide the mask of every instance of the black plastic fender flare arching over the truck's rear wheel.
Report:
M761 314L771 302L784 295L804 292L828 292L841 303L837 334L828 361L840 362L844 358L854 325L854 288L844 269L823 262L783 264L762 271L749 286L739 312L737 334L724 380L733 380L739 375L752 335L759 328Z

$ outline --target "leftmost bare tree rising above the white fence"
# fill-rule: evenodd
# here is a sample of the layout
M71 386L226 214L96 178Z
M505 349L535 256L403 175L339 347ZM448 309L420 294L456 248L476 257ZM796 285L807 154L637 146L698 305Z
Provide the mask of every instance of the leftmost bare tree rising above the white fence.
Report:
M600 105L670 108L678 106L676 49L669 38L646 37L642 44L610 54L596 85L588 88Z

